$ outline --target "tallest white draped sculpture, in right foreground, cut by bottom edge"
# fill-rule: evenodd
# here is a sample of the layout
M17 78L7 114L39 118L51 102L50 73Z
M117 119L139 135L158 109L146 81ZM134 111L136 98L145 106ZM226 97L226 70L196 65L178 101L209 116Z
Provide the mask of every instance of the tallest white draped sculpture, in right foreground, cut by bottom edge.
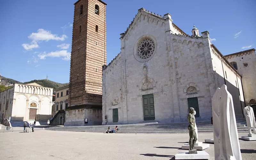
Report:
M233 99L226 85L212 97L215 160L242 160Z

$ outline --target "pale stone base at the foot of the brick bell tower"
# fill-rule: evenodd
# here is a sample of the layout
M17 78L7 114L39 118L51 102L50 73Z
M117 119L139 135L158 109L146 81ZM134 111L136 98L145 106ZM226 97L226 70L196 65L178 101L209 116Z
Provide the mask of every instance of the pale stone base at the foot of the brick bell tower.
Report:
M85 126L102 124L102 106L79 105L66 109L64 126Z

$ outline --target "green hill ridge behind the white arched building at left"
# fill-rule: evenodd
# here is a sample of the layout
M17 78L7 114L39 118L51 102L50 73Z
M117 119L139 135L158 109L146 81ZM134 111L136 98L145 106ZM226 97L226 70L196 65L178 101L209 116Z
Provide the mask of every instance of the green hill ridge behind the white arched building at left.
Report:
M50 80L47 80L47 79L41 79L41 80L32 80L32 81L29 81L29 82L19 82L19 81L16 81L16 80L13 80L11 78L6 78L6 77L2 77L2 85L9 85L10 84L15 84L15 83L20 83L20 84L29 84L29 83L37 83L39 85L42 85L44 87L49 87L49 88L53 88L53 89L57 89L57 88L60 88L60 87L64 87L66 85L68 85L69 83L57 83L57 82L53 82L53 81L50 81Z

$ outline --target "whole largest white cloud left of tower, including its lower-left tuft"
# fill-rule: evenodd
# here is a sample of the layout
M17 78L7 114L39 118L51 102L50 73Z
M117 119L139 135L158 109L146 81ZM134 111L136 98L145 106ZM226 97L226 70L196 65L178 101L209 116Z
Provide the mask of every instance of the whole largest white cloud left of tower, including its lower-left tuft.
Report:
M38 48L37 42L39 41L64 41L68 36L62 35L58 36L57 34L52 34L51 31L44 30L42 28L38 29L36 33L31 33L28 38L32 40L30 44L22 44L25 50L32 50L33 48Z

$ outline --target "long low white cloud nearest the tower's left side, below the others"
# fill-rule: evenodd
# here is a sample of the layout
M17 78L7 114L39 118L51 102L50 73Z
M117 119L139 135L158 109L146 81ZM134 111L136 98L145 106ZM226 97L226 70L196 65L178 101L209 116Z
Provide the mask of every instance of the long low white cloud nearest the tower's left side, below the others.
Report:
M50 53L44 52L42 54L38 54L38 57L40 59L45 59L45 57L63 57L62 60L70 60L71 53L66 50L55 51Z

